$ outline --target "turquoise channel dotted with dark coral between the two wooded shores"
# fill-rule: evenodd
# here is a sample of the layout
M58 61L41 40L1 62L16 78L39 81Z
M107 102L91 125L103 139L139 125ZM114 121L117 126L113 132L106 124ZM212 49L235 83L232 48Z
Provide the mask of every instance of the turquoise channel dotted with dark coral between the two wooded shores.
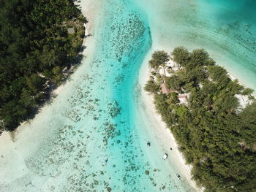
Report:
M40 138L29 152L17 146L23 166L1 178L4 191L190 191L157 143L146 147L149 123L135 114L138 73L151 47L148 19L132 1L107 1L104 11L93 60L33 124L47 133L34 135Z

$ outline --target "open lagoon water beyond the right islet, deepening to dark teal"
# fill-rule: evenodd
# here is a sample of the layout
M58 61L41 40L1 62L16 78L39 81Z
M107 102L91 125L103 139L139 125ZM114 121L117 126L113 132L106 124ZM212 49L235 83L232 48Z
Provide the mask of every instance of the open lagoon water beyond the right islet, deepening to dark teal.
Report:
M253 0L141 0L153 43L171 51L203 47L246 86L256 90L256 3Z

